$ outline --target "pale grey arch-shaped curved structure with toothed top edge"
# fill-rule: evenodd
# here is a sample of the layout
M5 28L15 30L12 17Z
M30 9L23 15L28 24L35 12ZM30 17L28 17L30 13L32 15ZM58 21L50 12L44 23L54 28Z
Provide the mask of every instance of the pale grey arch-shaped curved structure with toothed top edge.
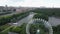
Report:
M48 33L48 34L53 34L52 26L51 26L47 21L45 21L45 20L43 20L43 19L38 19L38 18L37 18L37 19L32 19L32 20L27 24L27 26L26 26L26 33L27 33L27 34L30 34L30 32L29 32L30 24L34 24L35 22L37 23L38 21L39 21L39 22L42 21L42 22L44 23L45 27L49 29L49 33Z

